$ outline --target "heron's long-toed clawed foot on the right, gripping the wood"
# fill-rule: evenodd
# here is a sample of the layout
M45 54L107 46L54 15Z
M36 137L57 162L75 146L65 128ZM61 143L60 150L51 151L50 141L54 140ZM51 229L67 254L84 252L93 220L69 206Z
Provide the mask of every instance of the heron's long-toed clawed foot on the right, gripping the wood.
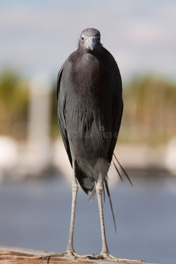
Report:
M87 256L87 258L89 258ZM145 260L143 259L127 259L127 258L117 258L112 256L111 254L109 254L108 252L101 252L100 255L96 255L91 257L91 259L106 259L106 260L110 260L110 261L116 261L116 262L135 262L135 263L146 263Z

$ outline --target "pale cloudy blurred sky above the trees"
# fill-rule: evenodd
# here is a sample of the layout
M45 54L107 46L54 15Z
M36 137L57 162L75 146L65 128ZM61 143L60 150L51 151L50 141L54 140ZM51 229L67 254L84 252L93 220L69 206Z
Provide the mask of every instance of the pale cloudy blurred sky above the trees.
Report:
M123 82L134 74L176 79L176 1L0 2L0 70L57 77L87 27L115 57Z

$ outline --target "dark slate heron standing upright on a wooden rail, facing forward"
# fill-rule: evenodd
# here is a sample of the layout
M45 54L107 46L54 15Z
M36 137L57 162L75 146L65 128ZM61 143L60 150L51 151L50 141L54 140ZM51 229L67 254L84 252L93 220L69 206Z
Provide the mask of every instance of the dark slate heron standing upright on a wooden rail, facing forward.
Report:
M69 256L142 262L110 255L106 243L102 192L105 186L112 210L107 173L121 125L123 99L119 68L100 43L97 29L82 31L78 49L62 65L57 78L57 99L60 132L73 170L70 234L64 253L46 255L42 259ZM116 170L119 173L117 167ZM80 255L73 248L77 181L88 194L89 201L97 194L102 236L99 255Z

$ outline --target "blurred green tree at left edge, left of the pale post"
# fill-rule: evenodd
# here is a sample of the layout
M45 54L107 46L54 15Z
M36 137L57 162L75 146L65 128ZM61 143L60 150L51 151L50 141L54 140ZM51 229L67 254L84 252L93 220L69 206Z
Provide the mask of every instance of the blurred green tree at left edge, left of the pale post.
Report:
M26 135L29 92L24 78L6 69L0 74L0 134Z

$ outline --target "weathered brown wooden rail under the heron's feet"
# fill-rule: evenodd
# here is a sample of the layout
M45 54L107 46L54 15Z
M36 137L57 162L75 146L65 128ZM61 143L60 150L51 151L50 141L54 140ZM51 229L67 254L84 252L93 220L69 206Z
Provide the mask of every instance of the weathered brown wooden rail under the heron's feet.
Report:
M48 251L40 251L40 250L33 250L33 249L25 249L25 248L15 248L15 247L7 247L7 246L0 246L0 263L5 264L42 264L47 263L48 260L40 260L38 259L42 255L47 255L50 253L56 252L48 252ZM51 257L49 260L49 264L114 264L115 262L111 262L108 260L89 260L89 259L71 259L68 257ZM118 262L119 264L134 264L134 262ZM145 263L146 264L146 263Z

